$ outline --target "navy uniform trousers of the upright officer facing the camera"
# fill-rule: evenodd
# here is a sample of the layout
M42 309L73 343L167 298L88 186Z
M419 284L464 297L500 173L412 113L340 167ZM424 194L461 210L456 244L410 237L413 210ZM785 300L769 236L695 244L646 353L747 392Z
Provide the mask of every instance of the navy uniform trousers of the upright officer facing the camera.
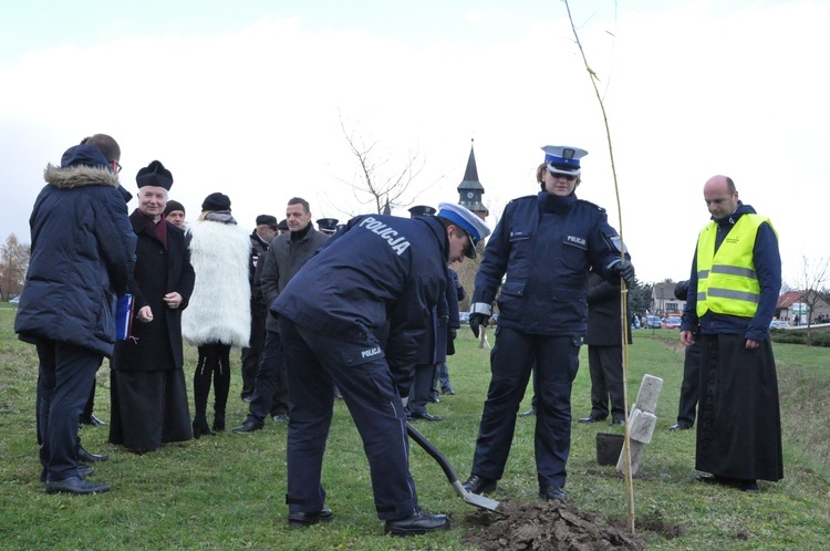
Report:
M536 364L536 468L539 487L564 486L571 448L571 387L581 337L532 335L499 325L490 352L487 391L473 459L473 475L500 479L516 428L516 414Z

